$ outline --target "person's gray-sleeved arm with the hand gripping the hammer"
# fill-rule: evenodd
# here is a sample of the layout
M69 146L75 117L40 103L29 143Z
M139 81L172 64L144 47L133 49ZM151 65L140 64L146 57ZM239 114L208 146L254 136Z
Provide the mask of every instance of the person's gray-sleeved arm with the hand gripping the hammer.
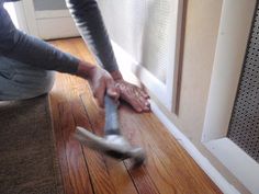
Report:
M68 72L88 79L98 103L103 105L104 93L117 99L113 78L103 69L79 60L50 44L29 36L13 25L8 12L0 3L0 55L45 70Z

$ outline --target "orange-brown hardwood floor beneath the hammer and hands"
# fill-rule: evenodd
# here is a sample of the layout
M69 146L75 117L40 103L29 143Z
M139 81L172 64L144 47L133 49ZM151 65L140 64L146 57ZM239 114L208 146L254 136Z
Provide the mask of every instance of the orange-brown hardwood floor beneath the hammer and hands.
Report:
M50 43L93 61L80 38ZM122 133L147 152L146 164L133 170L130 161L114 161L72 137L76 126L103 134L104 113L95 105L86 80L57 73L50 106L66 194L222 193L153 113L137 114L126 104L120 107Z

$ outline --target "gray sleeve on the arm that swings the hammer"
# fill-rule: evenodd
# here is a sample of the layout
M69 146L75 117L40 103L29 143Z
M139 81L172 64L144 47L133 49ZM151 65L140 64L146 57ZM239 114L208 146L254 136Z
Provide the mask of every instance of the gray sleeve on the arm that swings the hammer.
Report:
M0 3L0 55L46 70L75 73L79 59L15 28Z

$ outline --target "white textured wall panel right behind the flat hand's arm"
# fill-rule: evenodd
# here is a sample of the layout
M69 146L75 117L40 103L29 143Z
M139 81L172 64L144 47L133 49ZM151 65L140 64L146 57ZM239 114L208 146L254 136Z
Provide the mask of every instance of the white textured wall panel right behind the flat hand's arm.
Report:
M160 81L173 65L178 0L98 0L109 34Z

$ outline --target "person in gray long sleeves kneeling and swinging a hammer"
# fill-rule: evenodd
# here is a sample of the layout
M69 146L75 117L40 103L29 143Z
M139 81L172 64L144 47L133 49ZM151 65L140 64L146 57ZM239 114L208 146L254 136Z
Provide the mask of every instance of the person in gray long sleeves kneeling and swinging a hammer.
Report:
M100 106L108 93L126 101L136 112L150 110L148 94L123 79L95 0L66 0L66 4L100 67L16 30L3 8L10 1L19 0L0 0L0 101L47 93L54 84L54 71L59 71L88 79Z

